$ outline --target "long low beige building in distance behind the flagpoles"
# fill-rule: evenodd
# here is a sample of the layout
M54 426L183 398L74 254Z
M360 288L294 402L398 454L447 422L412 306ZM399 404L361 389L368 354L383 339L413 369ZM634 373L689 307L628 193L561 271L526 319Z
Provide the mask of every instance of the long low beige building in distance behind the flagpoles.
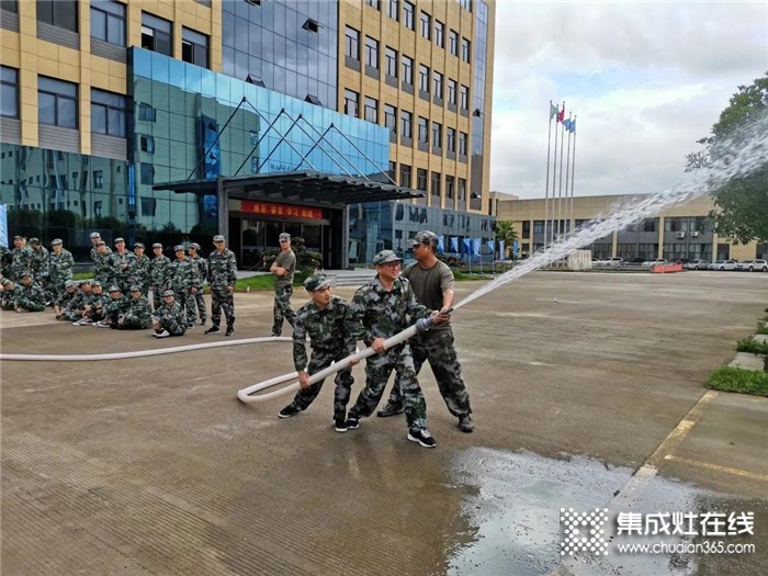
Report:
M612 214L617 206L631 206L645 197L643 195L575 197L573 199L573 218L571 218L569 205L558 213L553 210L552 199L547 202L543 199L519 200L513 196L498 195L493 200L493 206L499 221L513 223L519 237L521 256L524 258L541 250L545 238L551 241L553 229L555 237L567 235L572 229L578 231L585 224ZM768 245L757 242L737 245L727 238L719 237L713 231L712 222L708 216L714 207L710 196L700 196L666 208L625 229L614 230L584 248L591 250L594 258L619 257L628 261L656 258L677 261L701 258L713 262L730 258L741 261L768 256ZM553 213L562 214L560 221L556 218L553 221Z

